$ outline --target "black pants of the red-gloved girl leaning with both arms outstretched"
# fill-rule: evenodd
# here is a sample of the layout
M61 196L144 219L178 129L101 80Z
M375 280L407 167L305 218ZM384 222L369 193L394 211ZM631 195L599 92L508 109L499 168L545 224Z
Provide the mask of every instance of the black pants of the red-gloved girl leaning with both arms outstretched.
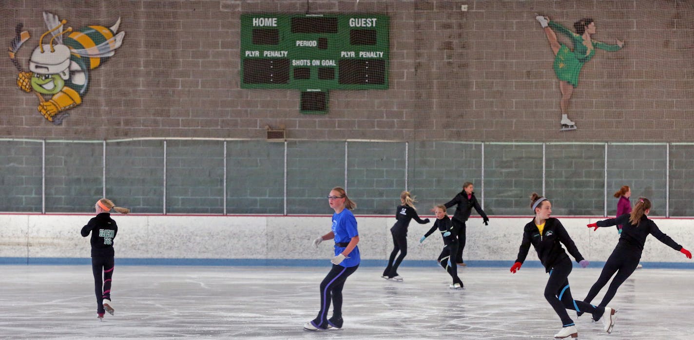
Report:
M607 262L605 262L605 265L602 267L602 272L600 273L598 281L595 281L584 301L586 303L591 303L593 298L598 295L600 289L607 284L612 275L617 273L617 275L614 275L612 282L609 284L609 288L607 289L605 296L602 298L602 302L600 302L600 306L606 306L612 300L614 294L617 293L619 286L622 285L625 280L632 275L632 273L634 273L636 266L638 266L638 261L640 260L641 253L635 255L627 250L613 250L612 254L607 258Z

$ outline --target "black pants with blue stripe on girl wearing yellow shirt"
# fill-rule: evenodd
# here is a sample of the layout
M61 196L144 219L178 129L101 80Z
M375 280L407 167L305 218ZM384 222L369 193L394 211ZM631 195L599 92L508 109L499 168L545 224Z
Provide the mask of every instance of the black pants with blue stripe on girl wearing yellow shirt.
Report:
M595 307L590 303L573 299L571 289L568 286L568 274L571 273L571 269L573 269L573 266L568 257L560 260L550 271L550 279L547 280L547 285L545 286L545 299L547 299L547 302L550 303L559 318L561 318L562 327L574 325L566 309L591 313L595 320L600 318L605 310L604 307Z

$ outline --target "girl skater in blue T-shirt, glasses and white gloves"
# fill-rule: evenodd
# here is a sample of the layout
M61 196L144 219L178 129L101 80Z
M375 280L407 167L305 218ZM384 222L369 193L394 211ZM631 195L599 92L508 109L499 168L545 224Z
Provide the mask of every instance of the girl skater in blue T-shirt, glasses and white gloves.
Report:
M341 187L330 190L328 203L335 214L332 214L332 231L313 241L318 245L325 240L335 239L335 257L332 257L332 269L325 275L321 282L321 310L318 316L304 325L305 330L326 330L342 328L342 288L345 280L359 267L359 232L357 232L357 220L350 210L357 207L347 197L347 193ZM328 309L332 299L332 317L328 318Z

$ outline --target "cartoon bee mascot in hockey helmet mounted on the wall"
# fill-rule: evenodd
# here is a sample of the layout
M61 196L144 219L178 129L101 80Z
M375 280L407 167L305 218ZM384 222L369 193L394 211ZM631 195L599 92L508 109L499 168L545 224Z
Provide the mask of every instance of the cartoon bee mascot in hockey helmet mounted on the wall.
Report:
M67 20L60 21L57 15L44 12L43 17L49 31L41 35L39 46L31 53L29 71L24 71L16 58L19 47L30 37L22 31L22 24L17 25L17 35L10 44L10 60L19 70L17 86L34 92L40 100L38 112L59 125L68 115L65 111L82 103L89 87L89 72L113 56L123 43L125 32L116 33L120 18L108 28L94 25L73 31L65 28ZM44 44L44 37L49 34L51 38Z

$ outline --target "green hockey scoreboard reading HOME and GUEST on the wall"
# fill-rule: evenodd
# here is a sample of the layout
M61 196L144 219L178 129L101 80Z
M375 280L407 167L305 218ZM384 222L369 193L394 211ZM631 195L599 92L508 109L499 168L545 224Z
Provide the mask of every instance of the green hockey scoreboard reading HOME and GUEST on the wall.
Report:
M388 88L385 15L241 15L241 88L301 90L300 111L328 112L329 90Z

